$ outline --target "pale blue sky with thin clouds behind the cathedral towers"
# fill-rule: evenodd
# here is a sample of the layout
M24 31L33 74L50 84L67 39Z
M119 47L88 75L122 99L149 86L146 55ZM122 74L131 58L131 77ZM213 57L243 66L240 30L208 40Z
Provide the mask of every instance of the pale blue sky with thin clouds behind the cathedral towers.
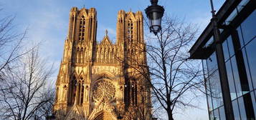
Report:
M214 0L214 7L219 9L224 0ZM210 21L209 0L159 0L165 12L170 16L185 19L188 23L198 24L202 31ZM56 69L62 58L63 44L67 36L69 11L72 6L78 8L94 7L98 13L97 40L103 39L108 29L110 39L115 41L115 23L120 9L125 11L143 11L150 0L2 0L0 1L0 18L15 16L14 25L17 32L28 29L27 42L43 41L44 57L54 62ZM56 72L57 73L57 72ZM202 109L182 111L176 114L177 120L208 119L206 101L199 104ZM186 112L185 112L186 111Z

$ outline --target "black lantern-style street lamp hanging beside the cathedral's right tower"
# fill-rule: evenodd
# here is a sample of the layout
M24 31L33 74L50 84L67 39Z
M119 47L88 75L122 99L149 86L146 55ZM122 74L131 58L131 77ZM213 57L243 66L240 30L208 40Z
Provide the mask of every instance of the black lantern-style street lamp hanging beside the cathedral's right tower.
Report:
M151 0L151 6L145 9L149 21L150 32L157 34L161 30L161 19L163 17L163 6L158 6L158 0Z

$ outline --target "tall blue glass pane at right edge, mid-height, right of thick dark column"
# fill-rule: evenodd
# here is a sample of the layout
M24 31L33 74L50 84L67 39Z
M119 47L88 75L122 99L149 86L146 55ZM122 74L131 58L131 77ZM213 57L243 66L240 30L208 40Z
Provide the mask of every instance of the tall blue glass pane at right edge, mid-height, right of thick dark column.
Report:
M256 31L256 30L255 30ZM250 67L250 74L252 76L252 83L254 89L256 89L256 39L252 40L250 44L246 46L248 64Z

